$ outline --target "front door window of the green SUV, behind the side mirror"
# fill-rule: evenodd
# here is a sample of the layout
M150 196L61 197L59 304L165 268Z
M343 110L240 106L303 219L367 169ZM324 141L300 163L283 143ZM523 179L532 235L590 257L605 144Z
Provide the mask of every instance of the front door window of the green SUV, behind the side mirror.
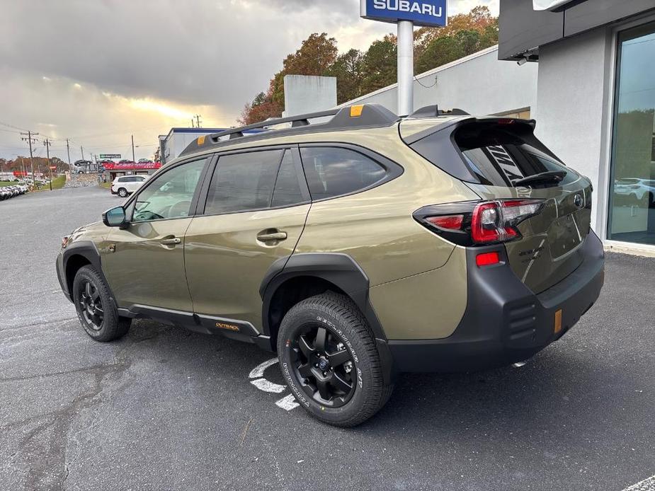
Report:
M207 158L183 163L161 173L142 186L135 202L132 221L149 221L188 216L195 188Z

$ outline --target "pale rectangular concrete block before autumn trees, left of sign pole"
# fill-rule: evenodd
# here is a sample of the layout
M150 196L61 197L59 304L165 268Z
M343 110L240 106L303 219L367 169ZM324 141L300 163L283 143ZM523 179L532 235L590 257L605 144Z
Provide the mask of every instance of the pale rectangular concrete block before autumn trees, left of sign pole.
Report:
M285 116L324 111L336 106L336 77L285 75Z

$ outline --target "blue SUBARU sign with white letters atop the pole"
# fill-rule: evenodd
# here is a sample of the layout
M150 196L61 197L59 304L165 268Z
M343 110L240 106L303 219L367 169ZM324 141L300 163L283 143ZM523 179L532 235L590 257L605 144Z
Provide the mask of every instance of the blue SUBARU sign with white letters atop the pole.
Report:
M374 21L411 21L414 25L443 27L448 23L448 0L361 0L361 16Z

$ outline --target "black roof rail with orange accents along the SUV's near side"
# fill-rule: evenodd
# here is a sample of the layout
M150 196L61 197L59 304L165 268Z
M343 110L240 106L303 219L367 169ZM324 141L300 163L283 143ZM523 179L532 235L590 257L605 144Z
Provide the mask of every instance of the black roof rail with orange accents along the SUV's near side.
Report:
M309 120L318 117L329 117L331 120L327 122L317 123L312 125ZM329 109L319 112L309 112L308 114L279 117L273 120L266 120L254 123L252 125L241 126L238 128L230 128L225 131L210 134L207 136L199 137L192 141L186 149L182 151L181 156L192 154L195 151L210 148L210 146L217 146L220 144L227 144L224 137L228 137L228 141L238 138L243 138L246 135L244 132L251 129L266 129L270 126L282 125L284 123L291 123L290 128L275 129L270 131L263 131L256 134L247 135L250 139L263 139L273 136L282 136L283 134L292 133L299 134L312 131L325 131L329 129L357 129L365 127L384 127L390 126L398 121L398 116L389 111L379 104L364 104L364 105L351 105L346 108Z

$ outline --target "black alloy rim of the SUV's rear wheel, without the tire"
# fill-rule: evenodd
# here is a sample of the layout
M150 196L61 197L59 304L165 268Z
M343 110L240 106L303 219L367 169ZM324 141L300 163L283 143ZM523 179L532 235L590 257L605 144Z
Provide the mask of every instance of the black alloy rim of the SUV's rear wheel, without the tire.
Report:
M288 346L302 391L328 408L348 403L355 393L353 357L338 334L307 325Z

